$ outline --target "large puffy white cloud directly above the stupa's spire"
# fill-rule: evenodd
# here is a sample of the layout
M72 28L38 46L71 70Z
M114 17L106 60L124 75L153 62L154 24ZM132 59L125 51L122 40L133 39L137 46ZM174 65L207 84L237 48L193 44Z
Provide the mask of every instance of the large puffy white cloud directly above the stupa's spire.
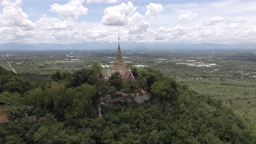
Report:
M124 26L128 23L128 18L132 16L136 7L132 2L122 3L118 6L110 6L104 10L102 24L109 26Z

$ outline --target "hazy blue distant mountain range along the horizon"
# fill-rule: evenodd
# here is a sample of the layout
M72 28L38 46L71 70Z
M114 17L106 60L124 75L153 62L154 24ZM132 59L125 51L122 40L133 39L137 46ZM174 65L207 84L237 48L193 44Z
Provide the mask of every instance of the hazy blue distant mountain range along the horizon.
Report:
M1 50L116 50L118 43L82 42L76 44L0 44ZM169 44L169 43L128 43L120 42L122 50L256 50L256 44Z

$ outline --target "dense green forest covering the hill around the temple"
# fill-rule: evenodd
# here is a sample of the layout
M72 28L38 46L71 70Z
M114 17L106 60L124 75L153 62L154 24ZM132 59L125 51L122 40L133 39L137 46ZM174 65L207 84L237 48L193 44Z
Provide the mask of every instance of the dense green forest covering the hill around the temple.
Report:
M133 69L139 73L139 87L151 91L152 99L105 104L102 117L97 116L96 104L105 88L96 77L97 64L73 73L55 72L38 86L0 70L0 102L10 108L9 122L0 123L0 143L256 143L247 121L221 99L190 90L160 70ZM118 76L111 80L110 84L119 82ZM127 85L122 85L113 86L114 93L125 90ZM37 121L31 122L26 114Z

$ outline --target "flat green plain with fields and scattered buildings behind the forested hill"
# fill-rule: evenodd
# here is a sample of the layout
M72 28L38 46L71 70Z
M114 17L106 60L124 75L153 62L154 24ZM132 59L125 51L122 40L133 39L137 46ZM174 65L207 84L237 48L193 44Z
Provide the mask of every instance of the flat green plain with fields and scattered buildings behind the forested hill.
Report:
M72 73L90 68L95 62L111 69L116 51L4 51L1 55L1 67L11 71L9 62L18 74L40 84L56 71ZM200 94L218 97L237 112L243 113L243 109L246 110L244 114L254 116L251 110L256 105L253 101L256 94L256 78L253 77L256 76L256 55L252 50L122 51L122 56L127 68L160 70ZM196 66L198 64L216 66L199 67ZM102 67L102 72L107 69Z

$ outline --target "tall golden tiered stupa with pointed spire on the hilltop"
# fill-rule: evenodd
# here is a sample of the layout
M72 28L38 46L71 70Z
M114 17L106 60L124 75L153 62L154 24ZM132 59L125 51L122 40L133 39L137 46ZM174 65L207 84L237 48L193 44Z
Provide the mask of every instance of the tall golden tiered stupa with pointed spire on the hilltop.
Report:
M118 35L118 50L116 52L116 60L113 65L112 74L115 72L120 72L121 75L126 71L126 65L124 64L121 50L120 50L120 44L119 44L119 35Z

